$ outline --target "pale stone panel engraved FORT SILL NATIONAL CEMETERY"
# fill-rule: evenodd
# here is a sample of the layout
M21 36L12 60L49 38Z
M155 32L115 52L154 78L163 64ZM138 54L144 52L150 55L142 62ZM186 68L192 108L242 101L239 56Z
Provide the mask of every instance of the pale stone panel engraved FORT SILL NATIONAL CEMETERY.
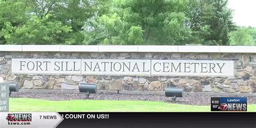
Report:
M233 60L12 59L12 73L234 76Z

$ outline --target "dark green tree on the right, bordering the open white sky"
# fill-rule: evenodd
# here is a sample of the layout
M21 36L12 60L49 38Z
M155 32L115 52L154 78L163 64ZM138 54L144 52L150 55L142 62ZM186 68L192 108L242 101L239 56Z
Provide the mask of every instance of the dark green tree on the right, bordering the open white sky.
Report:
M228 32L236 29L227 0L190 0L186 10L192 29L192 42L228 45Z

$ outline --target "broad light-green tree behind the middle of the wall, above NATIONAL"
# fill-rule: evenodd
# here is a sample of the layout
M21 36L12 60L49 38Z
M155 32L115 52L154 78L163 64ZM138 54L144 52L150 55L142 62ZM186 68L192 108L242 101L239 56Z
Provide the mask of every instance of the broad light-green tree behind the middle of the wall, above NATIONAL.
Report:
M92 43L185 44L191 31L185 25L183 5L180 1L113 1L110 12L97 17L91 26L95 30L91 35L96 39Z

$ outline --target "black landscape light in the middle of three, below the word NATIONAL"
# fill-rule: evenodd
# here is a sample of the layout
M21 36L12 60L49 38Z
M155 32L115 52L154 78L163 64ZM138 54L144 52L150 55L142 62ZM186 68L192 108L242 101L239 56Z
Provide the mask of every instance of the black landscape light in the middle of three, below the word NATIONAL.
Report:
M97 93L97 84L79 83L79 92L86 92L86 98L89 99L90 93Z

